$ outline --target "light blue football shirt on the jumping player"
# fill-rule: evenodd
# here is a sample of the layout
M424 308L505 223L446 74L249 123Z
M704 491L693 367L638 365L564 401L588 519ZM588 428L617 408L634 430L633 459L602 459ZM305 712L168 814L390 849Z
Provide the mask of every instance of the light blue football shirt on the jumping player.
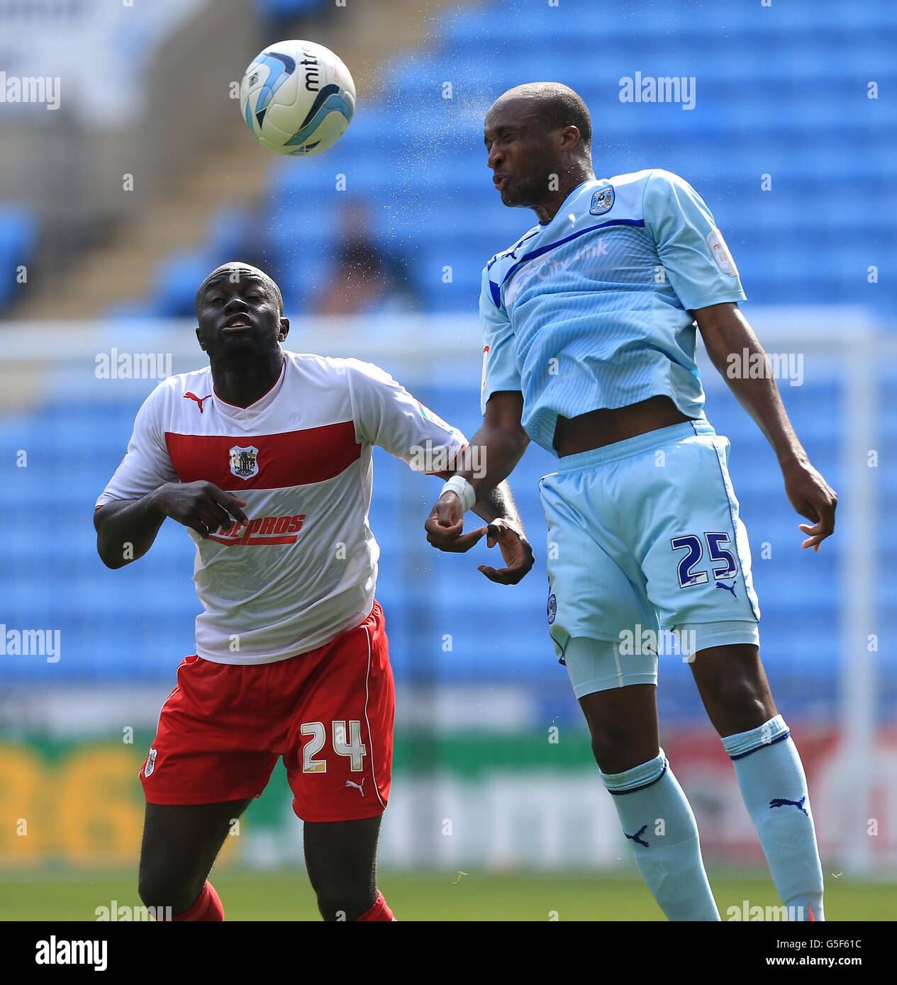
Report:
M584 181L483 271L482 410L493 393L520 391L523 429L555 455L558 415L661 394L700 417L689 312L745 299L687 181L656 168Z

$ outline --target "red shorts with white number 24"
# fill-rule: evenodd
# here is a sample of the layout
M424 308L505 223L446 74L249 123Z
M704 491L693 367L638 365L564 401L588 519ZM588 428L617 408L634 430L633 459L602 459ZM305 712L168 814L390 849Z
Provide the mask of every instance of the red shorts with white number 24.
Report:
M259 797L283 756L304 821L382 813L394 694L383 614L273 664L186 657L140 770L148 804Z

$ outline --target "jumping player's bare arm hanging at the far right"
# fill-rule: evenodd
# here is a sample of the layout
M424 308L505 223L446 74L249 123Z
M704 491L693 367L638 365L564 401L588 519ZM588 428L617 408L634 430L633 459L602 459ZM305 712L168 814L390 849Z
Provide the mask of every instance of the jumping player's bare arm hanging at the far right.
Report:
M749 379L745 373L730 374L727 371L731 364L729 355L740 354L745 349L751 356L759 354L765 362L763 347L737 304L711 304L699 308L694 315L710 360L776 452L789 501L801 516L812 521L812 525L799 525L799 529L807 535L801 546L818 551L822 541L835 529L837 494L810 465L794 433L772 373Z

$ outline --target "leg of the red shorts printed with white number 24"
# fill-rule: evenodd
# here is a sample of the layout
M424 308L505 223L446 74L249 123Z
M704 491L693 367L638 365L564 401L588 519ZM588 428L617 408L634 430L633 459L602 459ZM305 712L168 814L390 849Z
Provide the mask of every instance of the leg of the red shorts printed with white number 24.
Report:
M380 606L311 660L284 753L293 809L311 822L379 816L389 797L395 707Z

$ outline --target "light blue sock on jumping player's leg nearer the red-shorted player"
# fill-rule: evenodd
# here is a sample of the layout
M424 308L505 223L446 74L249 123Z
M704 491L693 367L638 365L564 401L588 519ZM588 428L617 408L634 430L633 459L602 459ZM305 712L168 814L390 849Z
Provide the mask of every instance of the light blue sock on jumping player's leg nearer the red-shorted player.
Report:
M601 773L633 858L668 920L719 920L698 826L663 750L625 773Z

